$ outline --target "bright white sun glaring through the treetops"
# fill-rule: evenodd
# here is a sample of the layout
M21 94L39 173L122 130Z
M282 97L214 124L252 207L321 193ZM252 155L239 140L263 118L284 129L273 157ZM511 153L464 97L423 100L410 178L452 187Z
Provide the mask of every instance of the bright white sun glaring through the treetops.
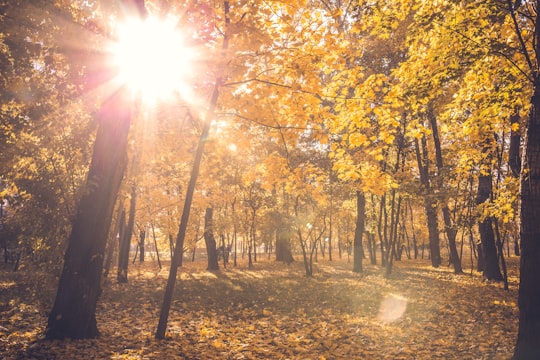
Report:
M115 80L145 102L187 91L194 52L171 19L125 20L117 27L110 53Z

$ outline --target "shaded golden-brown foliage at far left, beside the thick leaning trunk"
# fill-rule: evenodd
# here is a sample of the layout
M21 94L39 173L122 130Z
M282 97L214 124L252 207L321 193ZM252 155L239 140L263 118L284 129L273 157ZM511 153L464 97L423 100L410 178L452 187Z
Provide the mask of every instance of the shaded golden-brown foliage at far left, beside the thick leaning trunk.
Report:
M72 61L61 43L88 12L72 13L69 1L38 0L3 2L0 14L0 177L2 193L12 199L6 224L24 235L14 244L22 261L56 270L96 125L76 85L83 64ZM65 27L57 26L56 16Z

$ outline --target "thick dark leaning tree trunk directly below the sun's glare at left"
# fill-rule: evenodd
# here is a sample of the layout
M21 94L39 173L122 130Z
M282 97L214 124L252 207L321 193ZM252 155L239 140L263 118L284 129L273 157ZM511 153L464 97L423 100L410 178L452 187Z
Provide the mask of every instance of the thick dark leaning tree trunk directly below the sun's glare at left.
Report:
M47 322L47 339L87 339L99 335L96 305L101 294L103 253L127 166L131 108L129 93L119 89L104 102L98 114L99 128L86 191L68 239L56 299Z

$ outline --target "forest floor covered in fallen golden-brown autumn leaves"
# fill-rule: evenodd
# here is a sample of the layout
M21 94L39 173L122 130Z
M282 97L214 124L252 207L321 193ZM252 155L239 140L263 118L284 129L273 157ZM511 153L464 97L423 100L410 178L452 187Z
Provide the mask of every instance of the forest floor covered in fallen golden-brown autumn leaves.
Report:
M297 257L300 259L300 257ZM428 260L379 266L319 260L244 261L219 272L185 263L166 340L155 340L168 275L130 264L129 284L112 281L98 303L101 337L45 341L53 274L0 267L3 359L509 359L517 336L518 259L510 290L477 272L454 275Z

